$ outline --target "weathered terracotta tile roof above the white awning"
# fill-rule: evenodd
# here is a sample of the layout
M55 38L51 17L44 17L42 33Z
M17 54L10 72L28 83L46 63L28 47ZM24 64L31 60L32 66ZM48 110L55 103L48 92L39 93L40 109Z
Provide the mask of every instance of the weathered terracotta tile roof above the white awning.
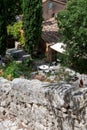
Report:
M57 21L55 18L50 18L43 22L42 39L49 44L59 41Z

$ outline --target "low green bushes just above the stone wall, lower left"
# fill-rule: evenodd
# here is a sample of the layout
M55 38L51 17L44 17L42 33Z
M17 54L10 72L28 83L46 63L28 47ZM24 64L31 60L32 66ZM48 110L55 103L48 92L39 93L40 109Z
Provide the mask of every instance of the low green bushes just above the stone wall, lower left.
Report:
M28 65L28 66L27 66ZM3 77L12 80L14 78L18 78L20 76L23 77L29 77L31 72L31 66L29 66L29 62L17 63L15 61L10 62L8 65L6 65L5 68L1 69L3 71L2 75Z

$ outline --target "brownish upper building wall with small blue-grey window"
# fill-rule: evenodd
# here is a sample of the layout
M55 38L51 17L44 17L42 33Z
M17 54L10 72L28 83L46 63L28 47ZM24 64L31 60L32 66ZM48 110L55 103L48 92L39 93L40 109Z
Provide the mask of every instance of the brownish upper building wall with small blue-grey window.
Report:
M47 0L43 2L43 18L47 20L65 8L65 3L56 0Z

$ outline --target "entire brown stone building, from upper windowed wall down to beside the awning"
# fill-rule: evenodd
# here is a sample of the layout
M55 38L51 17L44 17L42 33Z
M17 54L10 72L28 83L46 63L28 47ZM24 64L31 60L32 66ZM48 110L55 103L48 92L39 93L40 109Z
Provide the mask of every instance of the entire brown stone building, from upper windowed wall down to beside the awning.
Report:
M39 50L45 53L46 60L51 62L56 59L57 51L51 46L59 41L56 14L65 9L67 0L43 0L43 33L39 44Z

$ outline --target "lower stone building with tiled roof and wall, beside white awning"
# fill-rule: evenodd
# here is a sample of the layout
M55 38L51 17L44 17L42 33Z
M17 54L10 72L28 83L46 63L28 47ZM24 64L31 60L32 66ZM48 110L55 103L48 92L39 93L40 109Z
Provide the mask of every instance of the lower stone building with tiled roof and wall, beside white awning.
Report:
M55 60L56 51L50 48L51 45L59 41L57 21L54 18L50 18L43 22L42 37L38 46L38 50L41 53L45 53L46 60L51 62Z

